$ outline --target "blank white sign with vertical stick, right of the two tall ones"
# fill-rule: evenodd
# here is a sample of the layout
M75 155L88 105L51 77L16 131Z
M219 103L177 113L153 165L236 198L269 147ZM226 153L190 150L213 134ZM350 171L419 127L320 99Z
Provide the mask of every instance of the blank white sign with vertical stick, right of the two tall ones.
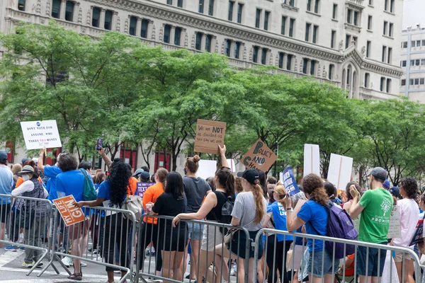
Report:
M351 180L353 170L353 158L331 154L329 161L328 181L335 185L338 193L345 190L347 183Z

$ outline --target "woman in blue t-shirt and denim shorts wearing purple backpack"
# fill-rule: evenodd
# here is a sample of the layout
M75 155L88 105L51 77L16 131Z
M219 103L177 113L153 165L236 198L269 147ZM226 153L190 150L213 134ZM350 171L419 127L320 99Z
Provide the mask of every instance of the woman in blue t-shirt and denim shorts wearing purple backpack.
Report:
M286 228L294 231L305 225L307 234L326 236L329 197L324 190L323 180L316 174L309 174L302 179L302 188L308 201L302 204L295 218L291 213L292 200L288 194L285 197ZM332 260L331 253L324 248L324 241L307 238L307 246L310 251L308 272L312 275L312 282L322 282L322 277L325 283L334 282L333 272L338 270L339 261Z

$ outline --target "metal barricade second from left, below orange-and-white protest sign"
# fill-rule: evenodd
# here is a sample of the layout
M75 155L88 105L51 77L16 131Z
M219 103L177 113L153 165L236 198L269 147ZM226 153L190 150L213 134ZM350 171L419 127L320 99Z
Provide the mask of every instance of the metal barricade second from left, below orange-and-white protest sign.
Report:
M109 271L120 270L123 276L119 281L120 283L124 282L125 279L129 279L130 282L137 282L132 277L135 255L133 246L135 246L135 233L138 226L135 214L128 210L108 207L83 207L82 209L86 215L85 220L79 224L65 227L59 211L54 207L52 230L63 228L64 231L67 231L69 244L60 248L57 233L52 233L52 243L54 243L52 245L52 257L38 276L41 276L50 265L57 271L54 265L55 260L71 275L72 272L61 260L61 258L68 257L74 260L74 265L84 260L84 262L102 265ZM89 241L89 237L91 241ZM63 239L66 238L66 236L63 237ZM90 250L89 242L91 242ZM94 250L96 250L96 253ZM68 253L69 251L70 253Z

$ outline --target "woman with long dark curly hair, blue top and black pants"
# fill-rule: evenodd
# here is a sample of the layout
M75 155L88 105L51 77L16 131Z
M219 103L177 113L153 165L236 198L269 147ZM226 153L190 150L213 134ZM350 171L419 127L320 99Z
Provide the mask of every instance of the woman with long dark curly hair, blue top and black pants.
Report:
M77 202L76 207L97 207L103 204L103 207L120 208L121 204L127 197L127 189L131 170L123 162L121 158L115 158L111 164L108 179L103 181L98 189L97 199L91 202ZM127 253L128 233L130 233L130 225L128 220L123 219L123 215L119 212L105 211L102 215L105 217L105 246L103 247L103 258L106 262L114 264L115 246L118 246L120 255L119 265L123 267L130 266L130 258ZM113 282L113 272L117 270L112 267L106 267L108 273L108 282ZM125 276L125 271L121 271L121 277Z

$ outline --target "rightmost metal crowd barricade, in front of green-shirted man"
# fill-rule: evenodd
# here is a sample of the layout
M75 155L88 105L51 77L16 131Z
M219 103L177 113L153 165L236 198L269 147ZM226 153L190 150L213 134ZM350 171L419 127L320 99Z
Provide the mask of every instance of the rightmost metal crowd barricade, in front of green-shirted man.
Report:
M257 258L259 255L259 242L263 241L262 236L263 234L265 234L267 236L266 238L266 244L264 246L264 253L263 253L263 257L267 258L268 253L273 253L273 263L269 262L271 266L268 266L269 268L269 272L273 272L274 268L276 268L276 262L282 262L283 265L286 265L287 263L289 263L290 266L296 267L297 266L297 262L295 262L295 255L293 253L292 258L290 260L290 262L287 262L287 254L286 253L276 253L276 249L271 250L271 248L267 248L268 244L270 244L270 247L276 246L277 245L277 238L273 238L273 242L269 243L269 239L268 236L271 235L282 235L284 237L283 241L285 241L286 237L288 236L293 236L293 243L295 243L295 237L300 237L302 238L302 248L300 249L301 251L298 250L298 253L306 253L307 252L305 250L308 250L307 247L307 239L312 239L313 241L313 246L314 243L316 243L317 241L321 241L323 243L323 248L325 249L325 242L331 242L333 243L333 253L332 254L332 271L331 274L336 276L336 273L339 272L338 278L337 279L332 279L332 283L333 282L357 282L358 277L360 275L358 275L357 273L357 257L358 257L358 248L359 247L364 247L366 249L366 258L369 257L370 254L370 249L378 249L378 258L380 258L381 253L386 253L387 256L390 255L392 257L392 252L401 252L403 253L402 255L402 278L400 282L404 282L404 270L405 270L405 263L404 260L407 257L407 255L409 255L412 260L414 260L414 277L415 277L415 282L416 283L420 283L422 282L421 280L421 268L425 268L425 266L421 266L420 262L419 262L419 257L418 255L416 255L416 253L414 253L414 250L411 250L409 248L400 248L400 247L396 247L396 246L387 246L387 245L382 245L382 244L376 244L376 243L365 243L365 242L361 242L361 241L351 241L351 240L345 240L345 239L341 239L341 238L331 238L331 237L327 237L327 236L317 236L317 235L310 235L310 234L305 234L305 233L290 233L288 231L280 231L280 230L275 230L275 229L261 229L259 231L259 233L257 233L256 239L255 239L255 250L254 250L254 258ZM344 257L339 259L339 258L335 258L335 250L336 250L336 246L335 243L344 243ZM287 245L288 243L284 243L284 246ZM348 254L346 253L346 246L347 245L354 245L356 246L356 250L354 252L354 266L353 266L353 276L351 277L351 281L346 281L348 276L346 276L346 270L348 269L348 267L346 267L346 261L347 261L347 256ZM285 249L284 249L285 250ZM310 253L310 252L309 252ZM312 257L314 258L314 253L322 253L322 270L321 273L322 275L326 274L327 272L324 272L323 270L323 264L324 264L324 250L322 251L312 251ZM280 258L281 257L281 258ZM299 255L298 255L298 259L299 259ZM334 265L336 265L336 262L338 262L338 267L336 270L334 270ZM388 267L389 270L389 275L390 278L393 274L393 269L394 267L392 267L393 262L392 260L390 260L390 266ZM254 271L252 272L256 272L257 267L259 267L259 262L254 261ZM264 263L264 270L266 270L266 262ZM307 268L305 269L304 272L302 272L302 267ZM378 270L380 270L380 261L378 260ZM293 268L294 270L290 270L290 272L288 271L288 273L286 274L287 276L289 276L289 280L290 282L293 282L293 279L295 278L295 268ZM339 269L339 270L338 270ZM285 270L285 268L282 266L281 270ZM312 266L309 267L309 262L308 262L308 257L302 256L301 255L301 262L300 262L300 267L297 268L297 273L302 272L303 274L307 273L307 275L309 276L310 282L311 281L311 274L312 271L314 270L314 260L312 261ZM365 270L368 270L368 262L365 263ZM385 270L384 270L385 272ZM397 271L396 271L397 273ZM283 279L281 278L282 274L280 274L280 282L283 282ZM270 278L270 277L269 277ZM300 277L298 277L300 278ZM305 279L304 276L302 276L302 279ZM301 281L302 281L301 279ZM336 280L336 281L334 281ZM272 283L272 282L277 282L278 278L276 278L273 275L273 279L271 280L271 282L268 283ZM259 283L265 283L266 282L266 276L264 276L264 280L263 282L259 282ZM368 277L365 277L365 282L366 283L371 283L371 280L368 279ZM382 280L381 277L378 277L378 282L382 282L382 283L388 283L385 282L385 280ZM398 281L397 281L398 282ZM251 283L251 282L250 282ZM256 282L256 277L254 276L254 283ZM324 276L322 276L322 283L327 283L327 281L325 281Z

